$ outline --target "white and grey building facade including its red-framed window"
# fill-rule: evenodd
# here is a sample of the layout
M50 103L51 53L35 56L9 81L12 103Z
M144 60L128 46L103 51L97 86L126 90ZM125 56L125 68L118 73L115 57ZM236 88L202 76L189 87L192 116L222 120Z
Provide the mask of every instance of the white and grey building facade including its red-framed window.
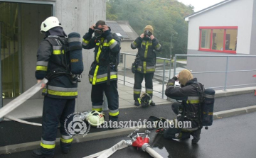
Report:
M230 55L232 57L188 57L187 68L204 73L194 76L206 87L227 89L255 84L256 0L226 0L187 16L188 55ZM228 60L227 60L228 58ZM228 64L227 64L228 62ZM227 78L225 70L228 69ZM240 72L232 72L240 70ZM236 85L236 86L234 86ZM252 86L252 85L247 85ZM219 87L223 89L223 87Z

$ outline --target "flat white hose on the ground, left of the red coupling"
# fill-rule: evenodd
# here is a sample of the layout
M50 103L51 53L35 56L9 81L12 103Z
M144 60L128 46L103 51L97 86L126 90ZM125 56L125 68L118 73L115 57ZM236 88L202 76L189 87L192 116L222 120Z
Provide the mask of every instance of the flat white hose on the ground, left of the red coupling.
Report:
M114 154L114 152L117 152L117 150L119 149L124 149L125 147L129 147L129 145L125 145L124 144L125 140L122 140L120 142L118 142L116 145L114 145L113 147L111 147L110 149L105 149L102 152L97 152L95 154L91 154L87 157L83 157L83 158L107 158L110 157L112 154Z

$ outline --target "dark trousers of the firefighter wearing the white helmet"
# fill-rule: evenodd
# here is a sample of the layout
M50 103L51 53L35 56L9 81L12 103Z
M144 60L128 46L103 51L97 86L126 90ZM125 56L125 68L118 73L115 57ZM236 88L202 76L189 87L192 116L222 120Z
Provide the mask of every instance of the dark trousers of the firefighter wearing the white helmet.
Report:
M55 140L60 123L60 147L70 149L73 137L68 135L64 123L68 115L75 111L75 98L50 98L45 96L43 100L43 123L41 152L54 154Z

